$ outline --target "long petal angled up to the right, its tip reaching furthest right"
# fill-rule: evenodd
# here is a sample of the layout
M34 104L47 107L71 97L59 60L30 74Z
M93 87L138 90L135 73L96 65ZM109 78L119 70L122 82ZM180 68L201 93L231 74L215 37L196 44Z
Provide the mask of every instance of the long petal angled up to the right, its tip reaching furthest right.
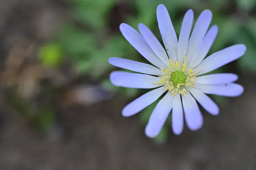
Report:
M238 59L245 51L246 47L243 44L227 47L205 58L194 70L198 71L198 75L210 72Z

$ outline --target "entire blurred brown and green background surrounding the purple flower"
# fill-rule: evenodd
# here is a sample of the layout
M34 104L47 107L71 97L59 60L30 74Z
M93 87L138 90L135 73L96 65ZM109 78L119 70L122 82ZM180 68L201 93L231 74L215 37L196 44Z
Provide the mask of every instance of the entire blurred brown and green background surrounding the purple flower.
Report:
M123 118L122 108L147 92L111 85L110 57L146 62L119 24L147 25L160 39L163 3L180 31L193 9L213 13L219 34L210 53L244 43L234 72L237 98L211 96L197 132L144 134L156 102ZM256 170L255 0L0 0L0 170Z

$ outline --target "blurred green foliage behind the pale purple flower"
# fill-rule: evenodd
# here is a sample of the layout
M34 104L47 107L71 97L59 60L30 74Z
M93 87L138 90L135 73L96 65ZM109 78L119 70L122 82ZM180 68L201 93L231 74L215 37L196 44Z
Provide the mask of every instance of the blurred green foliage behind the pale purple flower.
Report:
M127 3L131 6L134 14L125 17L124 20L116 22L125 22L134 28L138 23L144 23L160 40L160 33L157 28L156 7L163 3L172 16L177 35L179 34L183 12L192 8L195 16L198 16L202 10L210 9L213 13L212 24L218 25L218 36L213 44L209 54L216 52L226 46L234 43L244 43L247 46L247 53L242 57L238 64L244 71L256 72L256 18L247 17L244 21L243 14L247 14L255 2L253 0L236 0L234 9L230 9L228 0L73 0L67 1L71 6L71 22L64 23L57 36L56 46L47 45L43 49L45 52L57 56L64 54L67 60L70 60L79 73L91 75L94 79L101 81L113 92L121 92L126 98L134 98L140 95L139 89L124 89L113 86L108 77L108 73L113 67L108 64L108 58L121 57L136 61L144 61L144 58L131 47L131 45L117 32L113 33L109 26L109 20L116 20L117 16L109 18L114 6L120 3ZM198 6L198 4L201 4ZM235 12L230 12L234 10ZM245 24L244 24L245 23ZM120 23L116 23L119 25ZM116 29L116 28L115 28ZM62 51L59 51L59 50ZM208 54L208 55L209 55ZM58 63L59 58L44 58L43 61L48 64ZM224 69L215 70L215 72L225 72ZM214 96L215 97L215 96ZM226 99L221 97L214 98L216 102L223 103ZM157 104L150 105L140 114L141 123L146 124L148 118ZM171 124L169 116L162 132L155 138L157 143L163 144L166 141Z

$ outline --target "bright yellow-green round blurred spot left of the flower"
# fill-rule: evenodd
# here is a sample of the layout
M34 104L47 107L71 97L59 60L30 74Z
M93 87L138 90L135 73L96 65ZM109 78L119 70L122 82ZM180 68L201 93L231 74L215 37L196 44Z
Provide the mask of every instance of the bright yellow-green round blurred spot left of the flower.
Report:
M62 61L62 49L57 43L46 44L40 47L38 58L47 66L58 66Z

